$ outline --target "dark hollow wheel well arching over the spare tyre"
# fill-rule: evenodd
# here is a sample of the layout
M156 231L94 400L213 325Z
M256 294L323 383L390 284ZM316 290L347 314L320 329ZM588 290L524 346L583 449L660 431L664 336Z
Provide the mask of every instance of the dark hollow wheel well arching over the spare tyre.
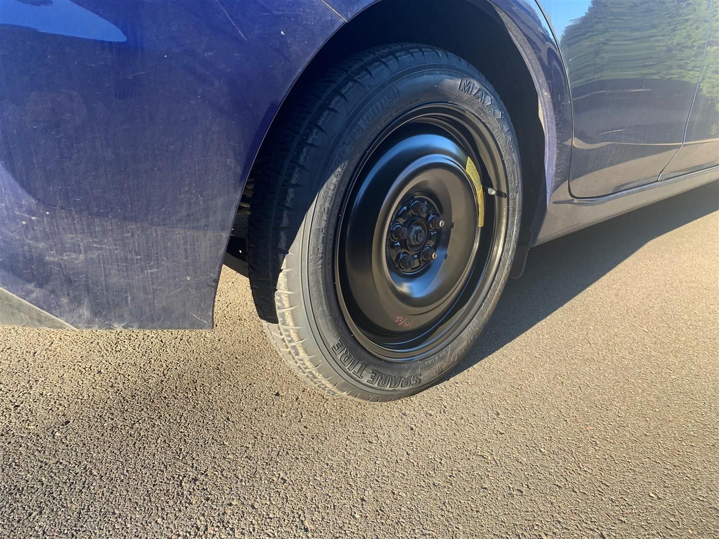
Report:
M523 253L526 253L534 214L544 198L544 129L539 117L539 98L531 74L505 25L485 1L475 5L467 0L441 3L382 0L340 27L303 70L280 106L249 174L239 212L251 208L257 163L262 160L262 150L269 145L267 141L277 137L278 130L285 124L283 118L292 106L293 96L302 95L319 75L345 57L393 42L421 42L453 52L480 70L499 93L519 144L523 212L518 249L524 247ZM237 226L232 234L238 235Z

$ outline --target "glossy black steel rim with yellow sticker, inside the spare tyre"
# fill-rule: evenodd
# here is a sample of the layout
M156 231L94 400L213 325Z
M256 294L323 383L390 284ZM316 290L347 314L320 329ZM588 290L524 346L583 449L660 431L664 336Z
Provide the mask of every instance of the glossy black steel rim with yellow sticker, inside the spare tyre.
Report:
M485 197L475 165L500 195ZM449 103L418 107L375 139L352 178L335 249L342 315L367 351L417 361L467 327L503 249L503 170L484 124Z

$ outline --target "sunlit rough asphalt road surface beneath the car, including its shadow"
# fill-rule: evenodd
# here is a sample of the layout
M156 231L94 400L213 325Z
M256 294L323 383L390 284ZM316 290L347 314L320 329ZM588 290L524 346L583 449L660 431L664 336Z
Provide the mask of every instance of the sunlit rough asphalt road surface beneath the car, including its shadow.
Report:
M719 537L719 190L534 249L456 374L332 400L213 331L0 328L0 535Z

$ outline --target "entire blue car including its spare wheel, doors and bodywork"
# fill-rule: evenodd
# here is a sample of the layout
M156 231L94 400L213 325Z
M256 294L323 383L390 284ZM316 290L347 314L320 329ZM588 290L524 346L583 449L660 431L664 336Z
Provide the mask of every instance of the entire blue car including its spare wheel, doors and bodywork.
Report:
M0 0L0 323L446 376L528 249L719 178L711 0ZM631 234L631 231L627 232Z

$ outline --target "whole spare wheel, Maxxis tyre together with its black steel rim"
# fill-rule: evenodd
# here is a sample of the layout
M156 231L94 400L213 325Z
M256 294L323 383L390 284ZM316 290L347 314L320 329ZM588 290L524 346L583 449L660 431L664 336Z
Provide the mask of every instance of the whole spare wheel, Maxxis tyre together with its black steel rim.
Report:
M410 395L457 364L508 277L516 138L482 75L424 45L352 57L310 95L255 170L257 310L313 384Z

